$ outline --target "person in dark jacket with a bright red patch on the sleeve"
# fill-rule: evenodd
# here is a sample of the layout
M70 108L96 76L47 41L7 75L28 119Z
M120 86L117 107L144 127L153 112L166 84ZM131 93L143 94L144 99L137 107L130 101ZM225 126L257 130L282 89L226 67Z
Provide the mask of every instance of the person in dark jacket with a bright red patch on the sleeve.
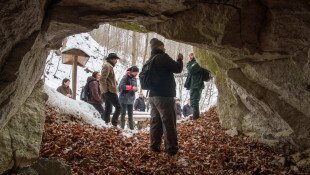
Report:
M125 116L126 110L128 114L128 126L131 130L134 129L133 125L133 103L135 101L135 93L139 90L137 87L136 76L139 72L139 69L136 66L130 67L126 75L122 78L118 90L120 92L119 101L122 106L121 111L121 127L125 127Z

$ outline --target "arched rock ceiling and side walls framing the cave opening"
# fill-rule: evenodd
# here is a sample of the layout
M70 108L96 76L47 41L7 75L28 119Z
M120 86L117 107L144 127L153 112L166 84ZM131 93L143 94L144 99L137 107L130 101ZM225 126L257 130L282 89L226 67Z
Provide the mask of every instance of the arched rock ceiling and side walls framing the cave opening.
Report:
M310 147L308 0L62 0L0 3L0 128L40 79L48 49L100 23L143 25L196 46L219 89L222 126ZM283 141L283 142L282 142Z

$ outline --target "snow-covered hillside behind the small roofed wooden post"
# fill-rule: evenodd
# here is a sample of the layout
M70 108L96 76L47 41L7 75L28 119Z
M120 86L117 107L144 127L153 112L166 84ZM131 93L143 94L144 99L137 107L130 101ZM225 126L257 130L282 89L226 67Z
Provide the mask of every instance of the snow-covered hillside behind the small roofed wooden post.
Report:
M82 87L86 84L87 77L91 76L91 73L86 72L84 69L88 68L91 71L101 71L102 64L104 63L105 48L100 46L88 33L81 33L68 37L66 48L79 48L85 53L90 55L85 68L78 67L77 70L77 99ZM126 67L122 64L115 66L115 74L120 79L126 72ZM45 84L51 88L57 89L61 85L64 78L72 78L72 66L62 64L61 56L56 55L55 51L51 51L46 62L44 71Z

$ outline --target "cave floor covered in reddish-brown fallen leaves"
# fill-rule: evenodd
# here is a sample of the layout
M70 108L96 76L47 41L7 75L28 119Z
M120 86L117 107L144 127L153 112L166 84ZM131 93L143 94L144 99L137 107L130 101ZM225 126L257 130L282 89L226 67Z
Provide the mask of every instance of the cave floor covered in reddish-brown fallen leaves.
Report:
M297 174L281 167L270 147L245 136L230 137L216 108L197 121L178 124L180 152L169 157L148 150L148 133L124 137L118 129L58 123L46 112L41 157L64 160L73 174Z

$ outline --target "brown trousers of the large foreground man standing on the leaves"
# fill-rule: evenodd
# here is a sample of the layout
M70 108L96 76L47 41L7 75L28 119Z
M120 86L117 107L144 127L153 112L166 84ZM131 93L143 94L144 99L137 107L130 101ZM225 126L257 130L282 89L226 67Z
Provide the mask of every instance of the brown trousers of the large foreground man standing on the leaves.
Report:
M164 136L165 151L167 153L176 153L178 151L178 138L174 98L150 97L150 105L150 148L159 150L161 138Z

